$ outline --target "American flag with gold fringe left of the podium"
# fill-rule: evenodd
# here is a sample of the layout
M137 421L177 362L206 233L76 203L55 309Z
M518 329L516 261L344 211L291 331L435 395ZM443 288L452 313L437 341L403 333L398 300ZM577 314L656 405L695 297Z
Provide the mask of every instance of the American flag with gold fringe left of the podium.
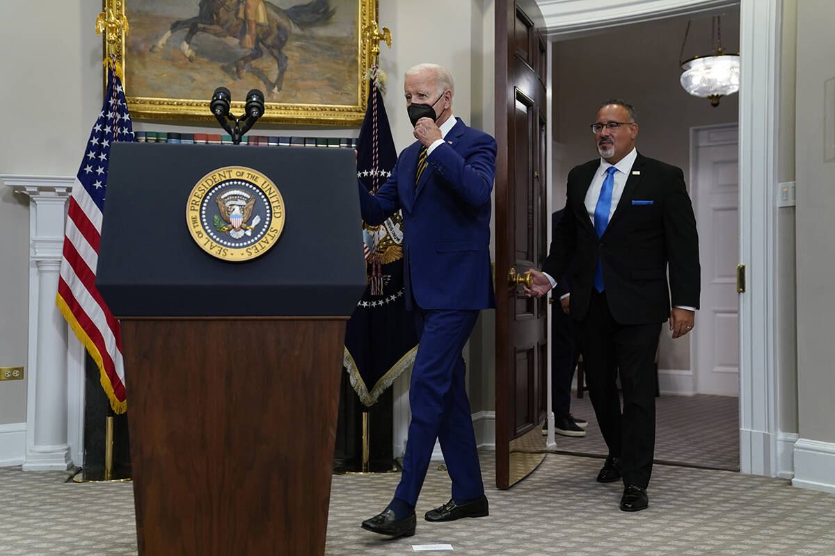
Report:
M118 68L117 68L118 69ZM115 413L124 413L124 363L119 322L95 286L104 193L114 141L133 141L134 130L117 71L109 66L104 105L96 120L69 199L56 303L99 365L100 382Z

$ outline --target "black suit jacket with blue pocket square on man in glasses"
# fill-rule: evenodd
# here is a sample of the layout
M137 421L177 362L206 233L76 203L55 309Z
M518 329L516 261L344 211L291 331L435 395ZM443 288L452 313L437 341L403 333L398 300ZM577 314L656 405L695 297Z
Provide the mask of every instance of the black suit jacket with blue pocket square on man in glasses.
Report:
M618 323L663 322L671 298L673 305L699 308L699 240L681 168L639 153L602 238L584 204L598 168L599 158L569 172L565 213L542 268L561 277L574 260L571 315L582 320L589 308L598 258Z

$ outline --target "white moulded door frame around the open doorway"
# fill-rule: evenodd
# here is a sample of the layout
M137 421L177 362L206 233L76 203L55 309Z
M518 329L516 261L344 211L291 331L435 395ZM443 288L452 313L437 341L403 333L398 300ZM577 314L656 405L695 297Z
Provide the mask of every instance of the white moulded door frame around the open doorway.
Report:
M777 121L782 0L538 0L551 40L638 21L740 7L739 261L740 468L777 476ZM675 48L675 45L670 45Z

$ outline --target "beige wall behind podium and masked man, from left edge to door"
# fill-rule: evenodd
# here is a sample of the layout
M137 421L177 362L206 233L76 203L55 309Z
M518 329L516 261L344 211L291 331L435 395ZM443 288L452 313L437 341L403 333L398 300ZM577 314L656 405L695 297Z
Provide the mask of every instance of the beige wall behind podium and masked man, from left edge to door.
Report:
M397 149L411 143L402 98L402 74L416 63L436 62L455 78L454 113L493 131L493 1L402 3L379 0L380 24L392 30L392 48L382 46L380 63L389 75L385 99ZM13 86L2 88L7 133L0 149L0 173L73 176L90 126L102 102L102 47L95 34L101 3L83 0L11 3L0 22L4 58ZM48 14L48 17L45 15ZM38 33L20 22L38 22ZM431 39L428 39L428 36ZM443 38L443 40L441 40ZM417 48L419 45L420 48ZM11 51L10 51L11 52ZM12 83L9 81L9 83ZM8 84L8 83L7 83ZM205 131L212 123L135 121L136 130ZM358 128L290 128L258 125L264 133L356 137ZM9 130L13 130L10 133ZM0 189L0 366L27 364L28 201ZM476 333L471 357L473 410L493 408L492 312ZM484 322L484 318L482 319ZM482 340L483 332L490 341ZM73 340L71 340L73 341ZM483 349L483 353L481 350ZM25 383L0 383L0 424L26 420Z

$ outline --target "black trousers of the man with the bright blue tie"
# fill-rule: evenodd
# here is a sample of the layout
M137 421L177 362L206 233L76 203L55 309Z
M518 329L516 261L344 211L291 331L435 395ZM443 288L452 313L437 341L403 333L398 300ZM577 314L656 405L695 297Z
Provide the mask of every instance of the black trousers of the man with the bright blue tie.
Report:
M650 483L655 451L655 351L660 330L660 323L617 323L606 293L594 290L588 312L577 323L586 383L609 455L620 457L625 484L644 488Z

